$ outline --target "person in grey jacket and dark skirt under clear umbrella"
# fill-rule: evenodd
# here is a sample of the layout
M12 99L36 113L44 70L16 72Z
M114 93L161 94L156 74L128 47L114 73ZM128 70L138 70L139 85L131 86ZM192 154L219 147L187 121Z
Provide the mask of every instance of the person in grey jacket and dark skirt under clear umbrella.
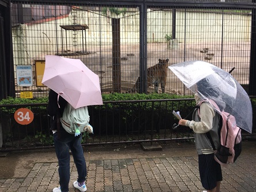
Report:
M198 84L206 84L206 81L200 81ZM198 86L201 87L201 86ZM214 92L214 88L211 88ZM205 90L198 90L194 98L197 106L201 103L201 93ZM208 90L209 91L209 90ZM216 95L217 96L217 95ZM208 192L220 192L222 178L221 166L214 160L214 149L207 136L209 133L213 139L214 146L219 148L220 140L218 128L220 115L214 110L208 102L202 102L201 106L193 112L193 121L180 119L179 125L188 126L194 131L195 146L198 153L199 175L202 186Z

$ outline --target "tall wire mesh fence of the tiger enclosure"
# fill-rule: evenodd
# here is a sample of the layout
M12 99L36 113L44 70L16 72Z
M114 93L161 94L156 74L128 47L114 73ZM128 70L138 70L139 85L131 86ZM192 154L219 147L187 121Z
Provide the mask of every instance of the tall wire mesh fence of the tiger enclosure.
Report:
M190 95L167 66L191 60L235 67L232 75L246 87L251 1L200 2L12 1L16 96L47 96L46 55L81 59L99 75L102 93Z

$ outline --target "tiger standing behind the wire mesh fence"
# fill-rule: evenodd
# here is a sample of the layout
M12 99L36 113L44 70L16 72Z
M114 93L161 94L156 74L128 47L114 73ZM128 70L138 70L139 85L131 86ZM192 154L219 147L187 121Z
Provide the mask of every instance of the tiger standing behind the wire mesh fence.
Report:
M159 63L146 70L147 87L149 88L149 86L154 85L156 93L158 93L159 84L161 84L162 93L165 92L168 62L169 59L159 59ZM140 78L141 77L138 77L135 85L129 92L134 93L140 90Z

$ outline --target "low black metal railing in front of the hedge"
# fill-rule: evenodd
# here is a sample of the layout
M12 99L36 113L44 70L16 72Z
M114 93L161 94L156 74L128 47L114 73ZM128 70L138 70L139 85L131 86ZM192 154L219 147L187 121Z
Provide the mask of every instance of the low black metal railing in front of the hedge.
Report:
M193 140L193 131L188 127L172 129L174 123L178 123L172 111L180 111L185 117L194 106L194 99L104 101L102 106L89 106L94 133L84 133L82 145ZM33 112L29 125L16 122L14 112L20 108ZM0 152L54 148L46 108L47 104L1 105Z

